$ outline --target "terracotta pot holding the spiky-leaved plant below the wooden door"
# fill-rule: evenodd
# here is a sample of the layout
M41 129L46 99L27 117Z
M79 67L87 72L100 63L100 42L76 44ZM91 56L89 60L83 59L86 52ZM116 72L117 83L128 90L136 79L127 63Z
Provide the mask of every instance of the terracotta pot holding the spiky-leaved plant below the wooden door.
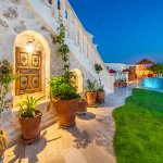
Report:
M22 117L20 115L22 135L25 140L33 140L38 137L40 133L41 116L42 113L40 111L37 111L35 117Z

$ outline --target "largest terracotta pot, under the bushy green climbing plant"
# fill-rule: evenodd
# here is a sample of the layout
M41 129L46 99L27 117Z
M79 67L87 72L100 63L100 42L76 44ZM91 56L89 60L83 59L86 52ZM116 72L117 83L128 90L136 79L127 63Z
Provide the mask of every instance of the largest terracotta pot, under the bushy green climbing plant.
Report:
M76 112L78 109L79 98L72 100L52 100L59 114L59 123L62 127L75 125Z

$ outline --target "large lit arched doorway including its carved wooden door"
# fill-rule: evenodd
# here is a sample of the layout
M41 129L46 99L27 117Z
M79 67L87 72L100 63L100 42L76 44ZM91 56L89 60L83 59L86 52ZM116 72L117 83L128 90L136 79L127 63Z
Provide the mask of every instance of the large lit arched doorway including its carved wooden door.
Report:
M14 42L15 72L13 106L26 96L47 96L50 79L50 49L46 38L34 30L18 34Z

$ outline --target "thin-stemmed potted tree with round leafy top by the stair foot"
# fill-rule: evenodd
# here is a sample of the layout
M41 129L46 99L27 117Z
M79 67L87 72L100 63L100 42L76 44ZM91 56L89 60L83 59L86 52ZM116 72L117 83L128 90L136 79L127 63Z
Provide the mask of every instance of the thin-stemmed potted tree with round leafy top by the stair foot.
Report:
M102 66L100 64L95 64L95 70L99 76L99 88L98 88L98 92L97 92L97 100L98 102L104 102L104 89L103 89L103 85L101 84L101 78L100 78L100 72L103 70Z

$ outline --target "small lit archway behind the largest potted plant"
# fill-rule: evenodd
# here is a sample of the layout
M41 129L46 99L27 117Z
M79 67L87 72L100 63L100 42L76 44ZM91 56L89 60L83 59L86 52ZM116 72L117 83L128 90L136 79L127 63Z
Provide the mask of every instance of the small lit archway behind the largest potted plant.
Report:
M84 91L84 76L78 68L74 68L71 72L74 74L74 85L77 87L77 92Z

